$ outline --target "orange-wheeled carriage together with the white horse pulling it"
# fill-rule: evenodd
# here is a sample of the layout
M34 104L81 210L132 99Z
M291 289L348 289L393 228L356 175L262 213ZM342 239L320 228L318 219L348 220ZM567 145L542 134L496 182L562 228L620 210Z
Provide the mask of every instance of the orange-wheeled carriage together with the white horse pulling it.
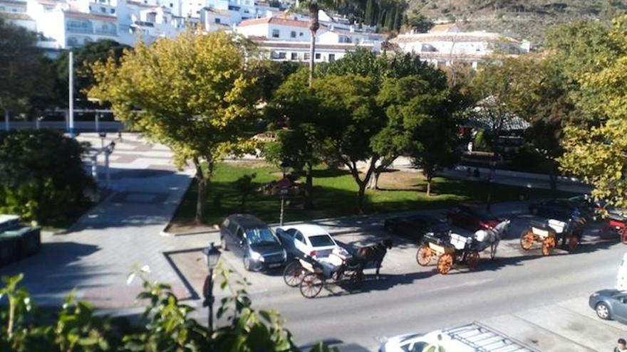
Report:
M437 257L437 271L440 274L450 272L453 265L465 264L475 268L479 265L479 253L490 248L490 257L494 259L502 235L509 228L509 220L503 220L494 228L478 230L473 235L465 237L450 233L448 235L427 234L423 244L418 248L416 261L418 265L429 265Z

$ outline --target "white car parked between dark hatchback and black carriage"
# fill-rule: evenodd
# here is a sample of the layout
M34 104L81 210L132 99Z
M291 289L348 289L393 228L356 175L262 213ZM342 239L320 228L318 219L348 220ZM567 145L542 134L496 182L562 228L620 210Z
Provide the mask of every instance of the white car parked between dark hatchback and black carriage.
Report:
M294 255L306 254L314 258L328 257L336 250L343 255L348 251L339 246L331 235L318 225L287 225L276 229L286 249Z

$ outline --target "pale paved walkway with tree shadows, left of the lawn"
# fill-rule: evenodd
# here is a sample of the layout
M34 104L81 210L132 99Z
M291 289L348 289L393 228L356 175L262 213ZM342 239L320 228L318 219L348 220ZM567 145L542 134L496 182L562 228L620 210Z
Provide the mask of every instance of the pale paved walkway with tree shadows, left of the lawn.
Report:
M97 134L81 134L78 140L100 146ZM110 158L113 192L67 233L44 234L38 255L0 270L1 275L23 272L38 304L60 304L76 288L78 298L99 308L133 306L140 282L126 281L134 265L148 265L151 278L187 294L163 252L206 246L205 238L176 240L160 232L190 185L191 172L177 171L167 147L149 146L137 135L123 134L123 141L116 138L115 143ZM103 182L104 170L98 169Z

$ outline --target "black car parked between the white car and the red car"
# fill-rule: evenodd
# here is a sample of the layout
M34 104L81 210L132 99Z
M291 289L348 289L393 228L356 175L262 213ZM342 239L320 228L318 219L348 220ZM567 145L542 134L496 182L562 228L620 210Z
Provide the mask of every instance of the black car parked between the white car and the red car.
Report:
M397 216L385 219L385 230L420 240L425 233L448 233L449 225L430 215Z

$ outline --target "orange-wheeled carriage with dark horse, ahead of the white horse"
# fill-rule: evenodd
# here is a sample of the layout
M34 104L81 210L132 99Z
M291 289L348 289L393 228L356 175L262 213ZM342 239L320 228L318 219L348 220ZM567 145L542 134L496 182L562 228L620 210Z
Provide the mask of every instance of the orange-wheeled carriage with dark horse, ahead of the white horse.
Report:
M583 233L584 223L579 219L532 221L520 235L520 247L531 250L535 242L540 242L542 255L550 255L559 240L564 244L568 239L568 250L573 252L581 242Z

